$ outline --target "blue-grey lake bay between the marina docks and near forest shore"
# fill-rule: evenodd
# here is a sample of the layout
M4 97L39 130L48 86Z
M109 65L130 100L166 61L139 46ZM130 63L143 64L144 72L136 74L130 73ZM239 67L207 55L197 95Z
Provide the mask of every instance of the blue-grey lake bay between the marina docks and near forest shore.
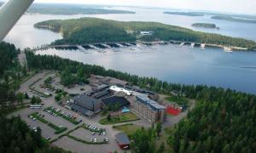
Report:
M253 52L225 53L222 48L177 48L175 45L155 45L119 48L118 51L105 49L38 51L38 54L58 55L84 64L102 65L108 69L126 71L143 77L157 77L168 82L185 84L207 84L233 88L256 94L256 66Z

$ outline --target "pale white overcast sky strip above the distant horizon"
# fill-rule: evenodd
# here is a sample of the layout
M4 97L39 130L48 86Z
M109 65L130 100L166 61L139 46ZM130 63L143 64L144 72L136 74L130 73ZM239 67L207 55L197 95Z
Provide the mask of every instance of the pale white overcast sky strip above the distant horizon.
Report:
M256 14L256 0L35 0L35 2L135 5Z

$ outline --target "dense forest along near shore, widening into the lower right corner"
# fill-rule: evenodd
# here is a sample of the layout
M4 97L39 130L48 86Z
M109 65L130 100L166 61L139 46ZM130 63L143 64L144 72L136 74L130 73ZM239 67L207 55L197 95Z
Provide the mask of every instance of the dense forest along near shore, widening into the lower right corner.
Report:
M158 93L175 93L196 99L195 109L172 129L167 139L174 152L255 152L256 96L231 89L204 85L183 85L162 82L152 77L106 70L98 65L84 65L57 56L35 55L26 52L29 69L62 71L67 67L76 73L116 77Z

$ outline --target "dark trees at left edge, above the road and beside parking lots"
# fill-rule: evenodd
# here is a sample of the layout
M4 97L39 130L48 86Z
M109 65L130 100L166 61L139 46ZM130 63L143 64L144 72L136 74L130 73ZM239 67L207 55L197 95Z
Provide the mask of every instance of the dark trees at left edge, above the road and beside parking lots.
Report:
M20 80L27 73L26 67L21 66L17 60L19 53L15 45L0 43L0 114L14 110L15 99L21 98L21 94L15 93L15 90L20 88Z

